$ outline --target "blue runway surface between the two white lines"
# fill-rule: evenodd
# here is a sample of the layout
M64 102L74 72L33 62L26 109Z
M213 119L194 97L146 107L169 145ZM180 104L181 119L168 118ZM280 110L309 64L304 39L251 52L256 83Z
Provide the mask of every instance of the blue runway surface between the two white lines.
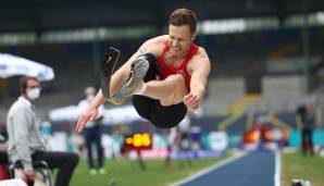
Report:
M250 152L173 186L275 186L275 152Z

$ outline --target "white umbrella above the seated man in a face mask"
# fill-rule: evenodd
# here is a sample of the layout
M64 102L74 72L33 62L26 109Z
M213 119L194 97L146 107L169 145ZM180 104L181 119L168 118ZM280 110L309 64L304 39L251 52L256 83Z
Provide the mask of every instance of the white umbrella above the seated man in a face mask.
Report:
M47 65L25 58L0 53L0 77L7 78L14 75L34 76L39 80L51 80L54 78L53 70Z

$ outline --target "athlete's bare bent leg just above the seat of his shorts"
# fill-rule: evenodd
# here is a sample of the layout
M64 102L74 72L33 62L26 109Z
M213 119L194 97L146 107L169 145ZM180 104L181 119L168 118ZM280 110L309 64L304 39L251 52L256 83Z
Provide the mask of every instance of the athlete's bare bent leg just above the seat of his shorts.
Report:
M146 83L145 96L158 99L162 106L176 104L184 101L188 94L182 75L171 75L163 80L151 80Z

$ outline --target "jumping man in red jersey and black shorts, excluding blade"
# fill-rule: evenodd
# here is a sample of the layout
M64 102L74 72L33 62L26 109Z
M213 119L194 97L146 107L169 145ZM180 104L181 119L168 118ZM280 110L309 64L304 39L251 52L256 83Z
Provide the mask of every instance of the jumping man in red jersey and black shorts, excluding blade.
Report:
M197 16L188 9L175 10L169 20L169 35L145 41L111 77L110 91L123 102L133 97L138 114L162 128L176 126L187 110L195 111L202 101L210 60L202 47L194 44ZM80 132L96 119L105 101L99 90L91 104L79 115Z

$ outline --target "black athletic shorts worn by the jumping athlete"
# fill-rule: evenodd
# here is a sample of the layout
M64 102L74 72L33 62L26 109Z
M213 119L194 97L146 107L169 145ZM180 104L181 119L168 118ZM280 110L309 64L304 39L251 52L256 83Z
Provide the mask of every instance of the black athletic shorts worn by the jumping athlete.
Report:
M157 79L157 59L152 54L146 54L150 62L150 67L144 78L144 82ZM160 100L148 98L146 96L134 95L133 103L137 113L150 121L157 127L171 128L176 126L187 114L187 107L184 102L161 106Z

